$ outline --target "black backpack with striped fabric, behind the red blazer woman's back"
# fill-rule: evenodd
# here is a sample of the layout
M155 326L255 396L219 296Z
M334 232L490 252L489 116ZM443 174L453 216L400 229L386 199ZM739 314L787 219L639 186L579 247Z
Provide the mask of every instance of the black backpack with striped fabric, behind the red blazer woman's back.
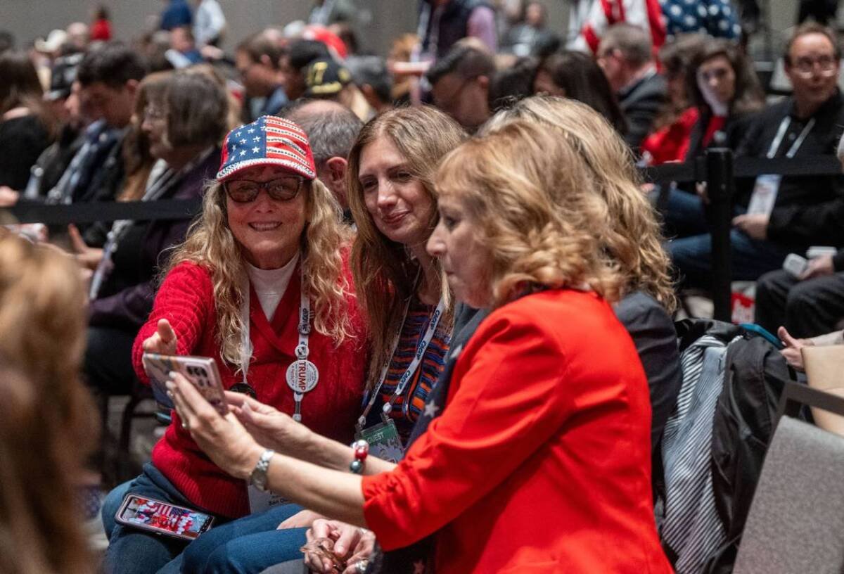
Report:
M679 574L722 574L733 570L793 371L765 338L731 323L685 320L676 328L683 386L663 436L657 523Z

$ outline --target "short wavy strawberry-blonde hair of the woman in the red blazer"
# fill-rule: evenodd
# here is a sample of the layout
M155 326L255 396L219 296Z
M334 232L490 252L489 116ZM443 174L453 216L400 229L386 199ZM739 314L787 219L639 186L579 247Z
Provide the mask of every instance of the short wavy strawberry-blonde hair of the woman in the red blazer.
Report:
M542 288L590 288L617 301L624 277L603 250L611 226L573 138L515 120L463 143L436 173L489 246L492 306Z

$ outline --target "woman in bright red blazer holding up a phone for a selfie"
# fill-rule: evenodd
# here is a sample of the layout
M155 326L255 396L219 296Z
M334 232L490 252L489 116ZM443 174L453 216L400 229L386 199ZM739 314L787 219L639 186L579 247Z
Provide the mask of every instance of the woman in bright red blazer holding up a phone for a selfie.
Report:
M593 169L575 140L527 122L443 160L428 250L459 300L493 311L452 349L445 409L398 466L354 474L371 472L363 445L351 473L275 453L241 426L252 406L221 417L176 376L192 436L235 476L371 528L385 550L436 532L437 572L669 572L647 382L609 305L625 280L601 250L610 223ZM295 436L289 417L257 408L263 444Z

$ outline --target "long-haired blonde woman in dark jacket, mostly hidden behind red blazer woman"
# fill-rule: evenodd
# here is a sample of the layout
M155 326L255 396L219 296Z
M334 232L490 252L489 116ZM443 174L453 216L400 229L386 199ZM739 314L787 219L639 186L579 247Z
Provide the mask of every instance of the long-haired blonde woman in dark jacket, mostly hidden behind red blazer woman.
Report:
M573 138L593 172L592 189L607 205L611 225L601 236L602 246L624 279L614 309L636 344L651 388L651 446L656 457L682 382L671 318L674 285L656 214L639 189L640 177L624 140L587 106L563 98L527 98L496 115L485 131L495 132L517 120L537 122Z

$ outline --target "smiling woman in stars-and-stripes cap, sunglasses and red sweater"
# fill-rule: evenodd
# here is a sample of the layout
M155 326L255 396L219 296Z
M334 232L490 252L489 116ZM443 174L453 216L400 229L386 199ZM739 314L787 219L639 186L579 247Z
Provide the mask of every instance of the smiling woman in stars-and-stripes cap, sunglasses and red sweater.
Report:
M262 116L232 130L203 212L172 253L135 340L138 377L148 380L145 352L213 357L225 388L351 441L367 336L340 215L295 123ZM212 514L218 524L278 502L214 464L176 414L143 473L109 496L104 517L127 492ZM107 572L160 571L187 544L122 525L110 535Z

